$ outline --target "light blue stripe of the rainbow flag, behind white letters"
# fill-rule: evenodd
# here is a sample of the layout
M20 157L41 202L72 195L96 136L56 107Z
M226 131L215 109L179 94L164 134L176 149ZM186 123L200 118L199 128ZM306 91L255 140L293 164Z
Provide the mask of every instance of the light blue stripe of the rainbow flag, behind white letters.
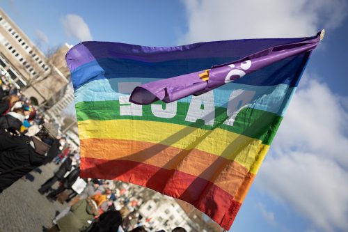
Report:
M93 102L118 100L120 95L129 95L129 93L119 93L119 83L127 82L152 82L156 78L114 78L114 79L97 79L88 82L75 91L75 102ZM145 82L144 82L145 81ZM136 84L134 84L136 85ZM228 100L232 91L253 91L253 99L249 107L269 111L274 114L283 116L288 98L291 98L296 87L290 87L287 84L278 84L276 86L250 86L246 84L230 83L216 88L214 93L214 104L216 107L227 107ZM180 102L191 102L191 96L182 98Z

